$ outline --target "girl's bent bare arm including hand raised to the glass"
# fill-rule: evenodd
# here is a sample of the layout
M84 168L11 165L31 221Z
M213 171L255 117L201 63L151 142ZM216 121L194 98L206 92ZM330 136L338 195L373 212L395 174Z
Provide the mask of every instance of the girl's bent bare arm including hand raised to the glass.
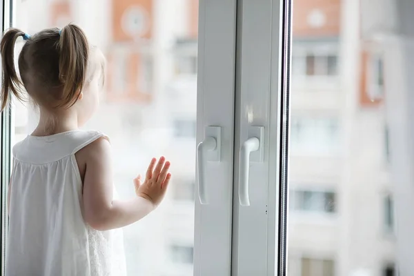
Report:
M148 215L160 203L170 180L170 164L164 164L164 157L156 168L156 160L152 159L144 184L141 185L139 179L135 181L137 196L126 201L112 201L110 144L106 139L97 139L87 150L83 215L92 228L110 230L127 226Z

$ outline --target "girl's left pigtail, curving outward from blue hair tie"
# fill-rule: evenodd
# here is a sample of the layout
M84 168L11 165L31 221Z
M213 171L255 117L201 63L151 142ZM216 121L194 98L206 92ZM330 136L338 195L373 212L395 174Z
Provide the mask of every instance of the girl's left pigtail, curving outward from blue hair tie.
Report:
M17 77L16 68L14 66L14 44L18 37L23 37L24 35L25 33L21 30L11 28L3 34L3 38L1 39L1 66L3 69L0 95L1 111L8 106L10 91L17 97L17 99L23 99L20 90L21 81L19 77Z

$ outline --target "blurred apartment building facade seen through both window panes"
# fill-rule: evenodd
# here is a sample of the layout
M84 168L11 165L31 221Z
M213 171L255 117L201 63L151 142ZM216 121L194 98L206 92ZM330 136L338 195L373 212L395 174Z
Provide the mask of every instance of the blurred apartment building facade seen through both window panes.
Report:
M128 272L193 275L198 0L17 2L18 28L78 23L106 55L88 127L112 140L121 195L152 155L174 164L163 206L125 229ZM361 37L359 0L296 0L293 11L289 275L394 275L381 49ZM19 141L36 116L19 104L15 114Z

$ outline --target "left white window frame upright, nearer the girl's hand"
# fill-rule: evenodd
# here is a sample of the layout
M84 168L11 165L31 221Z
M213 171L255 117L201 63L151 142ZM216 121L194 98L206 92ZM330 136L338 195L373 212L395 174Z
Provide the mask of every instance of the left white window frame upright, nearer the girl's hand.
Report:
M236 8L237 0L199 0L196 140L199 145L212 135L209 126L219 126L215 139L221 145L219 161L197 161L206 178L200 181L197 170L195 276L232 275Z

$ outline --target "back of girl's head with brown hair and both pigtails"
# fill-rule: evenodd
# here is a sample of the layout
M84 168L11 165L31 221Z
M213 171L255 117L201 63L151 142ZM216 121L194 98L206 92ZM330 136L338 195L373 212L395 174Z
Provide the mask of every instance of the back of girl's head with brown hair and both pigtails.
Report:
M26 40L18 61L21 79L14 66L14 45L19 37ZM32 37L11 28L3 35L0 48L3 66L1 110L8 105L9 92L23 99L22 86L39 106L72 106L91 74L87 72L91 49L88 39L83 30L73 24L61 30L42 30Z

